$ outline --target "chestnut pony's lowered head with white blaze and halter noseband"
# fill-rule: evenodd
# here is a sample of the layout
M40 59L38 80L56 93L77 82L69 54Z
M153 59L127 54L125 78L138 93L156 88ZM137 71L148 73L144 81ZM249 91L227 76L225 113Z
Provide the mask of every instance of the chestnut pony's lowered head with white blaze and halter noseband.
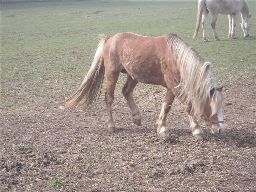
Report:
M212 133L214 134L223 133L225 130L225 124L222 115L222 88L223 86L210 90L210 97L206 101L204 114L201 115L201 118L212 129Z

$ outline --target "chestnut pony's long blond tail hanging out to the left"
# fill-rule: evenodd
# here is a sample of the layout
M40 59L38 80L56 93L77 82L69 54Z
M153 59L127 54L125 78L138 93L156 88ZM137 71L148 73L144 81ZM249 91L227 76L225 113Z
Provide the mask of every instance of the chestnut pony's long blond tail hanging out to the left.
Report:
M101 40L98 43L90 70L80 85L80 88L73 95L58 102L58 104L66 103L60 107L61 109L72 109L79 104L83 108L83 111L85 111L96 101L97 96L100 96L105 74L103 48L109 38L101 35Z

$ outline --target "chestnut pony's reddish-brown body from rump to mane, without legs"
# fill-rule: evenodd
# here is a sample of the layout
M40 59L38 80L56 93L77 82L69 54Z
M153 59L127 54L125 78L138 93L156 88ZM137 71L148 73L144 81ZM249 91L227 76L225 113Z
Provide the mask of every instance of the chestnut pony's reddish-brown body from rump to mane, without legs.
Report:
M165 85L162 71L172 59L167 43L169 36L147 37L130 32L118 33L104 47L104 63L107 61L105 65L111 65L117 71L125 69L139 82Z

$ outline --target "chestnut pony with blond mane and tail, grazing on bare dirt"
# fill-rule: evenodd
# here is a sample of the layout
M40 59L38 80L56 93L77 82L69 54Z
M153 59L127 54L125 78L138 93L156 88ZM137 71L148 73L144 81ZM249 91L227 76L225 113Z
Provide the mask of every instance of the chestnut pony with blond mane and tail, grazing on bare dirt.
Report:
M71 109L77 105L84 110L90 107L100 94L105 74L105 126L109 131L115 131L111 105L120 72L127 73L122 92L137 126L141 125L141 114L132 95L137 83L142 82L167 88L157 122L159 134L168 134L166 117L175 97L184 104L192 133L197 139L206 139L197 122L199 116L211 127L212 133L219 134L224 131L222 87L219 88L214 81L211 63L204 62L198 53L176 34L146 37L123 32L113 37L102 36L91 68L80 88L59 102L66 103L62 109Z

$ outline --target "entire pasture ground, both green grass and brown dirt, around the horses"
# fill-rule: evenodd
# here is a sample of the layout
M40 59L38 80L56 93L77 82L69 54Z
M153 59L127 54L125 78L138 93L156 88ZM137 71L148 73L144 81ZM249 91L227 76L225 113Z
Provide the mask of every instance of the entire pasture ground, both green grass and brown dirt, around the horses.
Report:
M213 39L202 29L192 39L197 1L60 1L2 3L0 10L0 191L255 191L256 190L256 3L248 0L250 37L241 16L236 39L228 16L219 15ZM115 89L116 133L104 128L103 83L98 104L82 113L55 104L81 84L98 34L129 31L145 36L176 33L192 45L224 85L226 130L196 140L177 99L167 117L170 134L156 133L166 89L139 83L134 100L142 125L132 122Z

